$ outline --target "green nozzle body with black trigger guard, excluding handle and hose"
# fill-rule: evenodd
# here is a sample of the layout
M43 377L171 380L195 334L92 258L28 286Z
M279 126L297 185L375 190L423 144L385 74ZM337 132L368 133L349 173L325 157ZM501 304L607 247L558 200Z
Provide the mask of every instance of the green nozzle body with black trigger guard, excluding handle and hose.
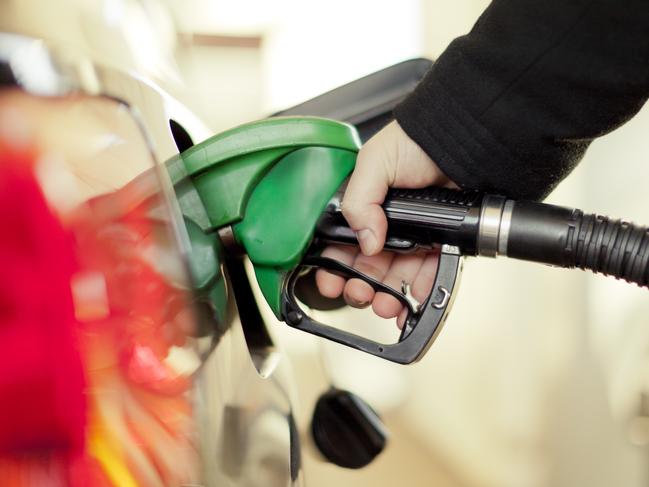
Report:
M252 262L261 292L278 319L388 360L409 363L423 355L441 329L461 255L457 247L442 247L436 291L421 305L407 286L394 290L318 255L314 242L322 235L316 236L316 231L352 172L359 148L351 125L315 117L280 117L215 135L167 161L166 168L191 230L192 248L204 249L211 238L219 249L213 254L220 259L228 249L219 236L227 235ZM209 266L200 263L193 268L214 273L214 269L206 272ZM297 279L308 268L359 277L401 301L410 313L399 342L380 344L308 316L295 298Z

